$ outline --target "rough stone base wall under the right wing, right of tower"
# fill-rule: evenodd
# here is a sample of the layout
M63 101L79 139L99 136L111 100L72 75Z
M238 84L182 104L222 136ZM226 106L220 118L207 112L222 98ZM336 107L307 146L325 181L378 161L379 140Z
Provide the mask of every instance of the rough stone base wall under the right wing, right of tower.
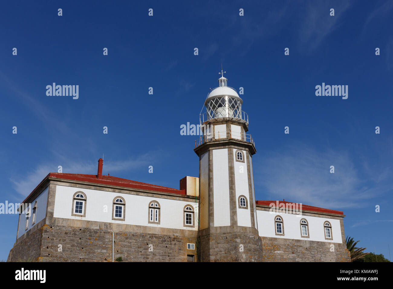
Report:
M263 262L349 262L345 244L261 237ZM331 247L334 245L334 247Z

